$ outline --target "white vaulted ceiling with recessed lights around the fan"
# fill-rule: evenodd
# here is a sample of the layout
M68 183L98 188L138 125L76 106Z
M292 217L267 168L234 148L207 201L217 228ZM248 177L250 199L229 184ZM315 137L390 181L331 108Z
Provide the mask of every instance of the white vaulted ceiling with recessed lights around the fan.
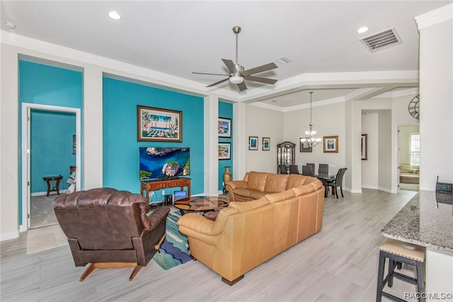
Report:
M414 17L452 1L1 1L1 30L151 69L224 99L273 108L418 87ZM108 17L120 13L120 20ZM15 28L11 28L13 23ZM221 59L245 69L289 59L239 91ZM367 26L366 33L357 29ZM401 43L370 51L360 39L394 29ZM171 86L171 85L170 85Z

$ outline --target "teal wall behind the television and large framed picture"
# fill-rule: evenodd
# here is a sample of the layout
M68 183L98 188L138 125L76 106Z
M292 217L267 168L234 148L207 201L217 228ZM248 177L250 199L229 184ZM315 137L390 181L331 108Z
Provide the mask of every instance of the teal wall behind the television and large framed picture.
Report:
M183 142L137 141L137 105L183 113ZM103 78L103 186L140 193L139 147L190 147L192 195L204 192L204 100ZM180 188L165 189L172 194ZM161 190L154 200L161 200Z

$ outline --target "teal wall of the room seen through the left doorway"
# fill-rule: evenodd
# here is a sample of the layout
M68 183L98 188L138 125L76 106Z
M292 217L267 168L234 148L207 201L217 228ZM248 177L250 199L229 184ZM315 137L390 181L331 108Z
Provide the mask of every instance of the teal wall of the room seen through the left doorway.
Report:
M67 189L69 166L76 165L72 148L76 114L32 109L30 129L30 192L47 191L45 176L62 175L59 189Z

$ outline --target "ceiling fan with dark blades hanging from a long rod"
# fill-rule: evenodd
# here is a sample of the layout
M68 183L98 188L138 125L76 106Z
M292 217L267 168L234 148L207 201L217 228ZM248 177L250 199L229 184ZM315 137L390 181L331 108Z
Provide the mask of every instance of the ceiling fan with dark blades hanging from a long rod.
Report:
M215 82L213 84L208 85L207 87L212 87L222 82L228 81L231 84L237 84L239 90L243 91L247 89L246 83L244 83L244 79L253 82L260 82L265 84L275 84L277 82L276 79L268 79L265 77L256 77L252 74L258 74L260 72L267 72L268 70L277 68L275 63L268 63L265 65L261 65L258 67L254 67L251 69L245 70L242 65L238 63L238 34L241 33L241 26L234 26L233 32L236 34L236 63L231 60L222 59L224 64L229 70L229 74L212 74L212 75L222 75L227 76L226 79L222 79L219 82ZM193 74L209 74L205 72L192 72Z

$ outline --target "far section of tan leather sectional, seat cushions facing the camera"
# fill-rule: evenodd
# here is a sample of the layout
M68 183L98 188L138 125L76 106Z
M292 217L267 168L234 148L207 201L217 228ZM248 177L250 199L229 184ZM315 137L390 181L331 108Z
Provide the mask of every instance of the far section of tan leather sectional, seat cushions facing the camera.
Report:
M252 201L266 194L282 192L314 181L319 180L299 174L251 171L246 173L243 180L226 181L225 186L230 201Z

